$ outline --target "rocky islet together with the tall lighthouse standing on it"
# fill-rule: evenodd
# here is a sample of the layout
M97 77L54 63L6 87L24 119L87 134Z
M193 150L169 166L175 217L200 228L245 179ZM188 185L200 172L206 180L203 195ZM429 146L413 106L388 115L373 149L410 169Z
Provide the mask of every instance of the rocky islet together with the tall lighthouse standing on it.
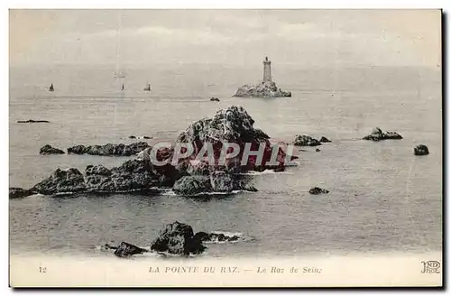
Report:
M238 88L234 97L291 97L290 91L282 91L272 81L271 60L263 60L263 80L255 85L244 85Z

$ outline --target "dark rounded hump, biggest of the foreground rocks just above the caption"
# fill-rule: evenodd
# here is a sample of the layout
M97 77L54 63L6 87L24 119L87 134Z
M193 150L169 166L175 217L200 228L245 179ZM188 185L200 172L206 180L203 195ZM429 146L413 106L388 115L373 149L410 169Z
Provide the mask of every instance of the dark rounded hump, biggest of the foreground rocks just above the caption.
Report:
M194 236L193 228L175 221L164 227L151 245L151 250L169 254L201 254L207 249L198 236Z

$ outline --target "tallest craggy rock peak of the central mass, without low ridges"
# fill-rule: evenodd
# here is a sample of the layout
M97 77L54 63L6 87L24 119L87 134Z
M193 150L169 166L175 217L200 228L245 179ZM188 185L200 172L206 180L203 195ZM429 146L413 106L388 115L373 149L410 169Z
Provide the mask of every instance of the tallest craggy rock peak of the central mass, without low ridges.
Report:
M218 110L213 118L204 118L189 125L189 127L177 138L177 143L190 143L194 152L189 158L179 163L180 170L188 170L190 166L201 165L201 171L283 171L285 163L296 159L295 156L287 157L281 147L275 147L270 142L270 136L261 129L253 127L253 118L244 110L242 106L230 106ZM234 143L238 146L238 154L235 157L224 158L223 150L233 153L234 148L225 146L227 143ZM204 156L203 147L211 145L212 154L207 155L207 161L198 162L199 156ZM262 162L256 155L250 155L243 162L244 149L258 151L262 149ZM269 163L272 158L272 149L276 151L277 164ZM199 154L200 153L200 154ZM207 151L208 153L208 151ZM194 164L193 164L194 163ZM192 168L192 171L198 171Z

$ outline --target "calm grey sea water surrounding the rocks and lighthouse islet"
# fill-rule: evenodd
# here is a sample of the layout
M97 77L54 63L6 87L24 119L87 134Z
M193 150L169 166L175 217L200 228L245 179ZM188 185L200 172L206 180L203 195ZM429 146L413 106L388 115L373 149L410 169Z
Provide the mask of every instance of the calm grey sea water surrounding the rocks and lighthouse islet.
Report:
M128 158L39 155L50 143L132 143L130 134L172 139L216 110L241 105L273 138L327 136L332 143L299 153L299 166L253 176L256 193L187 199L113 195L10 200L12 254L100 254L94 246L121 241L149 245L165 223L195 231L241 233L252 240L209 245L206 256L272 256L426 252L442 247L442 108L438 69L302 69L273 65L293 97L235 98L260 79L260 65L130 67L126 79L108 67L57 66L10 70L10 186L31 187L56 168ZM143 92L146 83L152 92ZM54 92L47 88L53 83ZM120 91L124 83L124 91ZM209 97L220 98L210 102ZM43 119L50 124L17 124ZM362 140L374 126L400 141ZM150 143L152 143L150 141ZM425 143L430 154L413 155ZM319 186L330 190L311 196Z

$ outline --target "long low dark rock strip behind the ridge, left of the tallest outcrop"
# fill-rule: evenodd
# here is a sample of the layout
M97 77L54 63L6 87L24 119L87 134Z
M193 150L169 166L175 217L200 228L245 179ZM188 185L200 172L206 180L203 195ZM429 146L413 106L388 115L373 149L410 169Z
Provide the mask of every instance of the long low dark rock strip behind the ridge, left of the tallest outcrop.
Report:
M76 145L68 148L69 154L89 154L101 156L130 156L142 152L144 149L151 147L146 142L131 143L107 143L105 145Z

